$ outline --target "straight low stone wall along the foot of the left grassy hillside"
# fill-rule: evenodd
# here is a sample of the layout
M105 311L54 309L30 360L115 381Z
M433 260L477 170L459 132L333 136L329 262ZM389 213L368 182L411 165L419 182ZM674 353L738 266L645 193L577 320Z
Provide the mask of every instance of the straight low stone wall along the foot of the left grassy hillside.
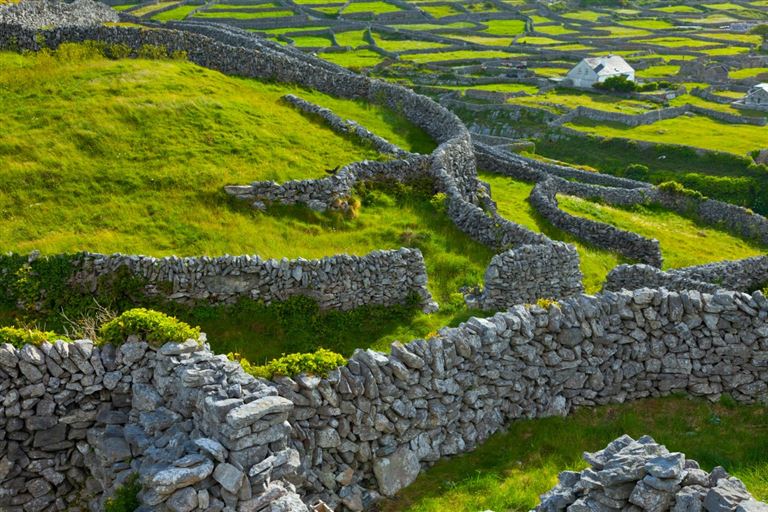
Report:
M418 249L320 260L86 253L77 258L70 282L96 293L101 278L125 270L147 283L147 294L190 304L232 303L240 298L269 304L303 295L316 300L320 309L349 310L403 304L416 295L425 310L437 307L427 290L427 271Z

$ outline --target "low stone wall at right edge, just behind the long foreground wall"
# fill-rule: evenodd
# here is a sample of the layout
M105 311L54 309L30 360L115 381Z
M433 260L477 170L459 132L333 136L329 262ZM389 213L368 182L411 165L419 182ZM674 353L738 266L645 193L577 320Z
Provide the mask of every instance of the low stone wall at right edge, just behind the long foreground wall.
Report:
M608 274L604 289L633 290L645 286L663 286L668 290L751 292L768 286L768 256L719 261L666 272L646 265L619 265Z

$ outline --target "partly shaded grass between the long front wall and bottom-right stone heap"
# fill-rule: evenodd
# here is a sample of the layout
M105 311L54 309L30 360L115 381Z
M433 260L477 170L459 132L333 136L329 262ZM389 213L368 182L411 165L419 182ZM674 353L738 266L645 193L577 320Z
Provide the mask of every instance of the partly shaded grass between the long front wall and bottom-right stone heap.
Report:
M651 435L711 471L721 465L759 500L768 498L768 430L764 406L711 404L681 397L584 408L567 418L522 420L474 452L444 459L380 507L380 512L525 512L557 483L581 470L583 451L622 434Z

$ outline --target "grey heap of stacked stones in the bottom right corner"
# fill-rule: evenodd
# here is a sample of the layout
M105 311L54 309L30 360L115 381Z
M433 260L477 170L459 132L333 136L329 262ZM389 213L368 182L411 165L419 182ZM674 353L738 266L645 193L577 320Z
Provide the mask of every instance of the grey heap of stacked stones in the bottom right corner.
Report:
M591 468L564 471L541 496L537 512L765 512L744 484L721 467L707 473L695 460L670 453L649 436L624 435L604 450L584 453Z

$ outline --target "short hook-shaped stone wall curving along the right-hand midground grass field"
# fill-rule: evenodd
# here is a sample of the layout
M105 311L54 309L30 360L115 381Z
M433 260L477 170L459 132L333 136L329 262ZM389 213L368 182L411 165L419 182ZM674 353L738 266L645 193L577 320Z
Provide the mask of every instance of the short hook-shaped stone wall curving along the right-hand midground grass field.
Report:
M550 178L537 183L531 192L531 205L554 226L596 247L615 251L627 258L661 267L662 255L657 240L617 229L602 222L575 217L562 211L556 195L565 180Z

